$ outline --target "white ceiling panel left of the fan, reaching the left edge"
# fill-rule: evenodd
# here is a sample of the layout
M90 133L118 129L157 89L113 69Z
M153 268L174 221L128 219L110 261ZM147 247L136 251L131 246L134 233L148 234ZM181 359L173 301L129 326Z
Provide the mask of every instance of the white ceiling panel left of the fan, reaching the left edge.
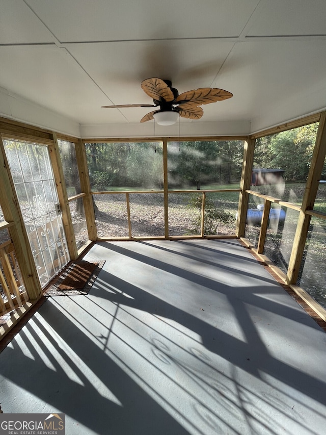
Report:
M0 47L1 85L34 103L87 122L101 114L102 92L71 59L64 48L55 46ZM121 122L114 111L112 119Z

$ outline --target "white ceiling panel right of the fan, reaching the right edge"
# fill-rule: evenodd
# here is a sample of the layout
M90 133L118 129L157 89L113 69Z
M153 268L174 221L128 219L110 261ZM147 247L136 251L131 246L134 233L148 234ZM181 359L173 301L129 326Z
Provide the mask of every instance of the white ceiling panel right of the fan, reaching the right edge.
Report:
M322 109L325 70L326 44L321 40L237 43L219 74L234 93L228 115L260 119L268 127Z

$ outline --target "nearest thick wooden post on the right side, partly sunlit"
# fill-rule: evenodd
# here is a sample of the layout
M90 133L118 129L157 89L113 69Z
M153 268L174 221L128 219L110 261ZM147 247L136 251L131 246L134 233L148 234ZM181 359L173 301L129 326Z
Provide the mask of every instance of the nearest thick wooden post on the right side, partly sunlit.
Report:
M296 226L288 272L286 275L286 284L296 284L297 282L311 219L311 215L306 214L306 211L313 209L319 186L320 175L325 161L325 155L326 112L322 112L320 115L319 127L307 178L306 189L302 201L302 207Z

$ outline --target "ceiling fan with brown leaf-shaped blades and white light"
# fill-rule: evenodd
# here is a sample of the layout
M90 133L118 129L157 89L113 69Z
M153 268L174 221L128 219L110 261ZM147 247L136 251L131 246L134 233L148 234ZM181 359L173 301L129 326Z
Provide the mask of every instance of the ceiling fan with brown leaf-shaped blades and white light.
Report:
M141 122L155 121L160 125L171 125L177 122L179 116L189 119L200 119L203 116L202 104L215 103L233 95L231 92L219 88L199 88L183 92L179 95L177 89L172 88L170 80L157 78L146 79L141 84L142 89L153 98L154 104L120 104L117 106L102 106L103 108L125 107L159 107L145 115Z

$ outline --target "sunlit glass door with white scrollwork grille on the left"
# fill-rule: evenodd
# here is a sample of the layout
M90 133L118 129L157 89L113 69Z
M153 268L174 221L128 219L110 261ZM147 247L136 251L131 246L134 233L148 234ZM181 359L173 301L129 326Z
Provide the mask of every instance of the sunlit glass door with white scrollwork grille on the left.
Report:
M4 140L19 206L44 287L70 260L46 145Z

